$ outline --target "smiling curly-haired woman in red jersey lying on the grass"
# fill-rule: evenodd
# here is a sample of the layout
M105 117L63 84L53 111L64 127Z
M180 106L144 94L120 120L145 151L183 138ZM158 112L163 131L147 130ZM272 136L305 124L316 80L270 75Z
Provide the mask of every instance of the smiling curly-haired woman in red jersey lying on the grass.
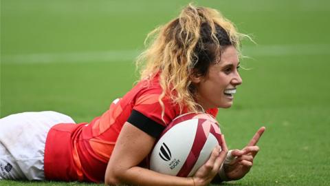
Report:
M140 82L90 123L72 125L72 118L57 112L2 118L0 165L5 171L0 178L208 185L245 176L264 127L247 147L228 155L222 136L222 150L216 147L191 178L153 172L145 159L173 118L186 112L215 117L218 107L232 105L242 83L238 56L244 35L217 10L189 5L150 36L151 45L137 60L142 66ZM19 135L12 136L18 129Z

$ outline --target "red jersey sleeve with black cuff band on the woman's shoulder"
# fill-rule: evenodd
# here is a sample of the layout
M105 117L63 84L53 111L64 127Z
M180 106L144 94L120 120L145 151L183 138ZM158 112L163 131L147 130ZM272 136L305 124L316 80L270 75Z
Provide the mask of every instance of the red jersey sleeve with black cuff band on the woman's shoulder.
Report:
M137 97L128 119L129 123L154 138L158 138L166 125L177 116L177 109L166 97L162 99L164 103L164 116L162 116L162 106L158 101L161 92L159 88L144 91Z

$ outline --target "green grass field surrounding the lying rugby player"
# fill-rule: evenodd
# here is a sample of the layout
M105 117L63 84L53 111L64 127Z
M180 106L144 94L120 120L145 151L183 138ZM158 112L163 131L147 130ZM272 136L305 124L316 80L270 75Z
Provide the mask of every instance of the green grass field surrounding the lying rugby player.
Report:
M133 59L146 34L188 2L1 0L0 116L56 110L91 121L137 80ZM243 43L250 70L217 119L231 148L267 130L250 174L225 185L330 185L329 1L197 4L221 10L257 43Z

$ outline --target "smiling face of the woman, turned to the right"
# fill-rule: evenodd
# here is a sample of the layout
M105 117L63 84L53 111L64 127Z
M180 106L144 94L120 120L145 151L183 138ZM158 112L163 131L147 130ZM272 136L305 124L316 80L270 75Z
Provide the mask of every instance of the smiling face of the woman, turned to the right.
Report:
M239 57L236 49L230 45L221 53L221 60L210 65L206 76L192 77L197 90L197 103L204 110L231 107L236 87L242 83L238 69Z

